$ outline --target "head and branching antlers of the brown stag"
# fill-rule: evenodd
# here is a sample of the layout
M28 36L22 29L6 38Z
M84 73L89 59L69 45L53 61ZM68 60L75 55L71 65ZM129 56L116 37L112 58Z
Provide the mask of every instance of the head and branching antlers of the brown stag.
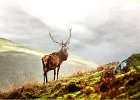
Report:
M49 32L49 35L50 35L51 39L52 39L55 43L58 43L58 44L61 46L61 50L60 50L59 52L62 52L62 53L67 53L67 50L69 49L69 47L68 47L67 45L70 43L71 30L72 30L72 28L68 28L68 29L69 29L69 31L70 31L70 36L69 36L69 38L66 40L66 42L63 42L63 40L62 40L61 42L56 41L56 40L52 37L51 33Z

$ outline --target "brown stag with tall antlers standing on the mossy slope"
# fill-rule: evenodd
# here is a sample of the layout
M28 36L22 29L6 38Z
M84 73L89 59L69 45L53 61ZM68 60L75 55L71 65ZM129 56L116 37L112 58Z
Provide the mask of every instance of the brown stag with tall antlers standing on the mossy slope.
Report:
M72 28L68 28L70 31L70 36L66 40L66 42L58 42L56 41L51 33L49 32L50 38L53 40L53 42L59 44L61 46L61 49L58 52L53 52L49 55L44 55L42 57L42 64L43 64L43 72L44 72L44 84L48 82L47 78L47 73L51 70L54 70L54 81L55 81L55 76L56 76L56 69L57 69L57 79L58 79L58 74L60 70L60 65L63 63L63 61L66 61L68 58L68 52L67 50L69 47L67 46L70 43L70 38L71 38L71 30Z

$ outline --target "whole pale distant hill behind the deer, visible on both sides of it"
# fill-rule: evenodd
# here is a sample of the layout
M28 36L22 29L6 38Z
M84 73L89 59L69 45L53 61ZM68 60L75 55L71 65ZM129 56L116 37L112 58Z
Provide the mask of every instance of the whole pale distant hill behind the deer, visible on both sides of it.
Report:
M0 88L9 89L26 82L43 81L41 57L44 52L0 38ZM49 54L49 52L46 52ZM98 64L84 58L70 55L61 68L59 77L84 72L98 67ZM53 71L48 74L53 79Z

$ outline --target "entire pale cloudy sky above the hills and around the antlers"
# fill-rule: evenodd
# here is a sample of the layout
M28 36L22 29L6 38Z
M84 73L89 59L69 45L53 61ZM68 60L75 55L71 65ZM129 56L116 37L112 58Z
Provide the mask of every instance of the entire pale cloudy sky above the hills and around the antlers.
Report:
M57 51L72 28L69 53L98 63L140 52L139 0L0 0L0 37Z

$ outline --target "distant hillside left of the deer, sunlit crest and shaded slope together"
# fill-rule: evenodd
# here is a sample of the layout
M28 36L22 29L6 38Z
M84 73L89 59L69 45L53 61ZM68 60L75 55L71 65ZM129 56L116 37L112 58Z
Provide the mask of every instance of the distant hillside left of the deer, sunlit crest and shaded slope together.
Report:
M0 38L0 88L7 90L13 85L43 80L41 55L37 50Z

